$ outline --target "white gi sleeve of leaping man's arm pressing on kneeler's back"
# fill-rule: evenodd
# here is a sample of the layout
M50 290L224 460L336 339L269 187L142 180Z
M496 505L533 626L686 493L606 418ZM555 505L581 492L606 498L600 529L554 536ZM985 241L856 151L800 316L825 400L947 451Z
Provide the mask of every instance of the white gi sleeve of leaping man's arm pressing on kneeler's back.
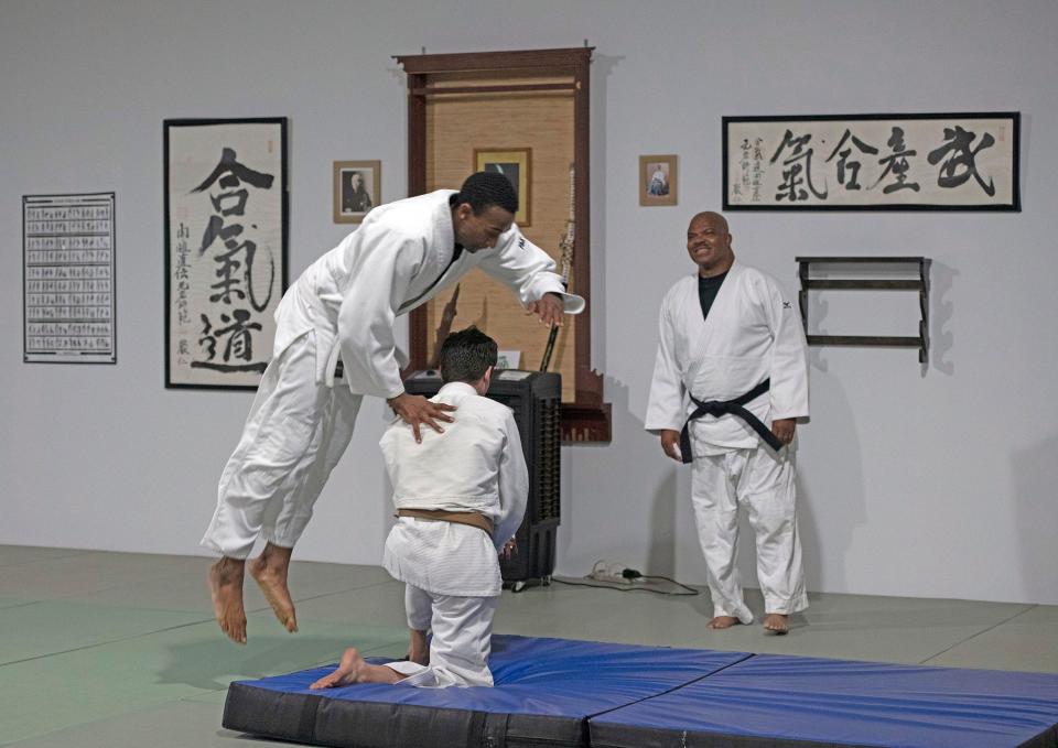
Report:
M425 250L392 231L365 241L338 310L342 361L355 394L396 398L404 386L393 324Z

